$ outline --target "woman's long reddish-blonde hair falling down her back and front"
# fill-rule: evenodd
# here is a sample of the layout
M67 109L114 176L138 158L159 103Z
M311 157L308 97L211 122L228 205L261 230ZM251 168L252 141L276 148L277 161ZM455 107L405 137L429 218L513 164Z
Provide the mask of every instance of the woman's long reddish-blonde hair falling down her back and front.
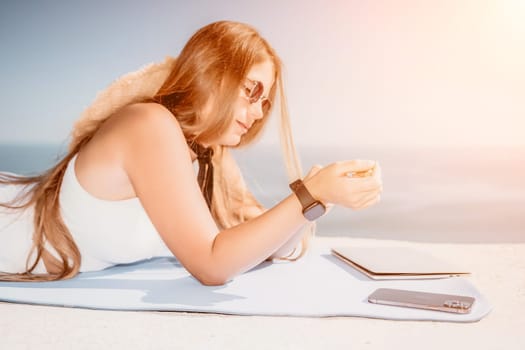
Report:
M278 92L281 115L280 136L288 176L293 180L301 177L301 169L290 129L282 81L282 64L266 40L246 24L220 21L201 28L186 43L179 57L165 64L168 66L168 75L162 77L163 83L156 89L156 93L152 96L143 91L134 93L123 105L147 101L160 103L177 118L187 139L197 142L207 141L223 133L230 125L233 102L238 98L242 79L253 65L265 60L270 60L274 66L276 84L269 91L268 98L275 100ZM118 89L125 90L125 87L119 86ZM215 118L202 118L202 108L211 91L217 97L214 99L213 106ZM0 183L32 186L29 191L24 192L23 198L17 198L16 202L0 204L1 206L23 209L34 205L35 210L33 247L27 258L26 271L20 274L0 274L0 280L58 280L71 278L78 273L81 256L60 215L60 186L68 162L119 107L123 106L105 108L103 109L105 113L98 114L93 112L100 111L90 110L91 115L81 118L73 130L67 155L44 174L28 178L0 176ZM252 143L260 135L268 117L269 115L265 115L254 123L242 137L239 146ZM224 146L214 148L213 162L216 176L214 176L211 213L219 227L227 228L252 218L253 214L247 212L245 208L250 206L261 210L263 208L248 191L242 181L239 168L234 162L229 161L232 158L228 148ZM228 166L225 166L226 162ZM299 258L304 254L309 237L305 235L301 253L291 259ZM46 242L55 249L60 260L46 254L44 248ZM34 252L36 257L31 259ZM51 259L52 265L58 267L58 273L44 275L32 273L44 254Z

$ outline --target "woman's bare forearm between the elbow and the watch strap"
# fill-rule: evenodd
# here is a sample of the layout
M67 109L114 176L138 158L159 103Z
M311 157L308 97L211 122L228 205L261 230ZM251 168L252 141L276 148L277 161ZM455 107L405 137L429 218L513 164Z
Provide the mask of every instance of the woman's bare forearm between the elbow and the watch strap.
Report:
M256 266L299 236L306 222L299 201L290 195L257 218L220 232L211 254L214 279L225 282Z

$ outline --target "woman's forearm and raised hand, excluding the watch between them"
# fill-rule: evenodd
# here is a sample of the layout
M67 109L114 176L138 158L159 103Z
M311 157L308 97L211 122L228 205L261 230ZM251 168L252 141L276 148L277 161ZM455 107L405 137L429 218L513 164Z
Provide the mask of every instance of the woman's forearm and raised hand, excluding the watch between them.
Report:
M366 208L379 198L379 170L365 178L349 178L347 174L370 169L375 164L371 163L333 163L318 170L305 185L312 197L322 203ZM204 284L223 284L272 256L307 222L298 198L290 195L264 214L216 234L199 264L200 271L195 272Z

